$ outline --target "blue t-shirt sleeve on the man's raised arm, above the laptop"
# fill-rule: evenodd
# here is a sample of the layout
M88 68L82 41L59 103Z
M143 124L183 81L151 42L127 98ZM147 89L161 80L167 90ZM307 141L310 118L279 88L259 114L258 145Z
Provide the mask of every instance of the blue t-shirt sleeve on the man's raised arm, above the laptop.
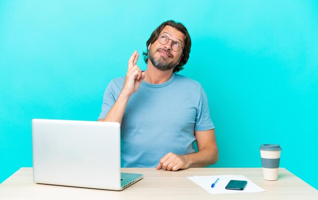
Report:
M114 85L114 82L111 81L105 90L102 104L102 112L98 119L104 119L109 110L113 107L114 103L116 102L114 94Z

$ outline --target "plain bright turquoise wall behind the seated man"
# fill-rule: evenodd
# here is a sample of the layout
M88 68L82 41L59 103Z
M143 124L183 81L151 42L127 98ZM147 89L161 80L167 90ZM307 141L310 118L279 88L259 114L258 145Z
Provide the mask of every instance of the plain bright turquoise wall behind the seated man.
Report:
M96 121L110 80L174 19L193 43L179 73L208 95L213 167L261 167L259 146L278 143L280 167L318 188L317 11L317 1L1 1L0 182L32 166L31 119Z

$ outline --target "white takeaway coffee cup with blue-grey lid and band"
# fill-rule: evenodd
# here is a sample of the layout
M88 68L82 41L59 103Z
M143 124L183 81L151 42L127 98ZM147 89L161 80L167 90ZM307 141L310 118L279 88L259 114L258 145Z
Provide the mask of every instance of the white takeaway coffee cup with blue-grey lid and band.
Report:
M265 180L275 181L278 179L278 168L281 148L278 144L262 144L260 147Z

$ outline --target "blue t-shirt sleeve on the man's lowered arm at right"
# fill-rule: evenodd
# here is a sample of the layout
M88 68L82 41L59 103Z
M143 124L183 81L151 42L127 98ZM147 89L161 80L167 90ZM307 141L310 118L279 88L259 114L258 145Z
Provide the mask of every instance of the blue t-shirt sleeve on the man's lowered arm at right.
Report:
M210 116L208 97L201 87L201 98L197 110L195 130L206 131L214 128L215 127Z

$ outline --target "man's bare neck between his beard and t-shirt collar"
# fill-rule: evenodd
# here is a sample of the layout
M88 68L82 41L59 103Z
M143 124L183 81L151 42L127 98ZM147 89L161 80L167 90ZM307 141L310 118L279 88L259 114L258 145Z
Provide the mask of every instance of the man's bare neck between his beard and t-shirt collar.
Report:
M144 81L149 83L149 84L165 83L171 78L172 71L173 71L173 69L168 70L168 71L161 71L161 70L155 68L152 65L152 63L150 62L150 60L148 60L147 70L145 72Z

